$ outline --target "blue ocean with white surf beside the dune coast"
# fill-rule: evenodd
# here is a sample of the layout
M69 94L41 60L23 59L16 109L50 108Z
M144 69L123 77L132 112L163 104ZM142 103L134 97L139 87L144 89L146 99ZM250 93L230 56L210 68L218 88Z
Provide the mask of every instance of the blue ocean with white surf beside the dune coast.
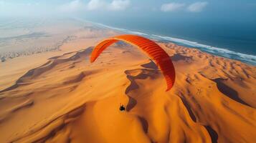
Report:
M192 47L209 54L235 59L256 66L256 29L255 26L245 27L208 27L196 29L169 29L162 26L158 31L146 28L140 30L119 28L98 24L108 29L115 29L126 34L137 34L160 41L171 41L181 46ZM150 26L149 26L150 27ZM152 28L153 29L153 28ZM243 30L241 30L243 29Z

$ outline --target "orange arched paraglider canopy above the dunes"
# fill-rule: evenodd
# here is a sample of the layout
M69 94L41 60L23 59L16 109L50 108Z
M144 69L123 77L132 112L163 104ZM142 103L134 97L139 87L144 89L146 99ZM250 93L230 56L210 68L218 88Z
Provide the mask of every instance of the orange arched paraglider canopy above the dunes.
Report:
M126 43L137 46L139 49L146 52L146 54L148 54L148 56L153 59L156 65L161 69L163 76L166 79L166 91L169 91L171 87L174 86L175 70L171 58L166 53L166 51L158 46L158 44L142 36L127 34L105 39L93 49L90 57L90 62L95 61L95 59L98 58L98 56L104 49L106 49L108 46L115 43L116 41L125 41Z

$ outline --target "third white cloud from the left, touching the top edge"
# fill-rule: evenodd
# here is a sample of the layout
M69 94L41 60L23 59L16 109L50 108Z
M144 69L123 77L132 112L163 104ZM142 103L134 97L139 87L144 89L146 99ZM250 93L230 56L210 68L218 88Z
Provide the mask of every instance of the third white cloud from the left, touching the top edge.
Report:
M121 11L126 9L129 5L129 0L113 0L108 8L112 11Z

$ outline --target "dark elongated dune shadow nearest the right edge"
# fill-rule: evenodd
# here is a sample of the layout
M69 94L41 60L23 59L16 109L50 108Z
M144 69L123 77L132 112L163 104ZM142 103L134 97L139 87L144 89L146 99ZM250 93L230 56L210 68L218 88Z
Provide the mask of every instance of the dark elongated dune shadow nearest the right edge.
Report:
M217 79L212 80L212 81L216 82L219 92L222 92L222 94L226 95L227 97L229 97L230 99L233 99L236 102L239 102L240 104L244 104L244 105L251 107L249 104L247 104L242 99L240 99L240 97L238 97L238 93L236 90L234 90L231 87L224 84L222 82L223 80L225 80L225 79L217 78Z

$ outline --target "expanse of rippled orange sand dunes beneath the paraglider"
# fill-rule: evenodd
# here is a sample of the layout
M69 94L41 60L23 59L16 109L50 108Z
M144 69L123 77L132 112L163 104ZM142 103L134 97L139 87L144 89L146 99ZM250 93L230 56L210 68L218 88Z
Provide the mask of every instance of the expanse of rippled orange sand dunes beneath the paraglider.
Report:
M54 56L0 92L0 142L255 142L256 67L158 44L176 67L170 92L133 46L93 64L93 47Z

